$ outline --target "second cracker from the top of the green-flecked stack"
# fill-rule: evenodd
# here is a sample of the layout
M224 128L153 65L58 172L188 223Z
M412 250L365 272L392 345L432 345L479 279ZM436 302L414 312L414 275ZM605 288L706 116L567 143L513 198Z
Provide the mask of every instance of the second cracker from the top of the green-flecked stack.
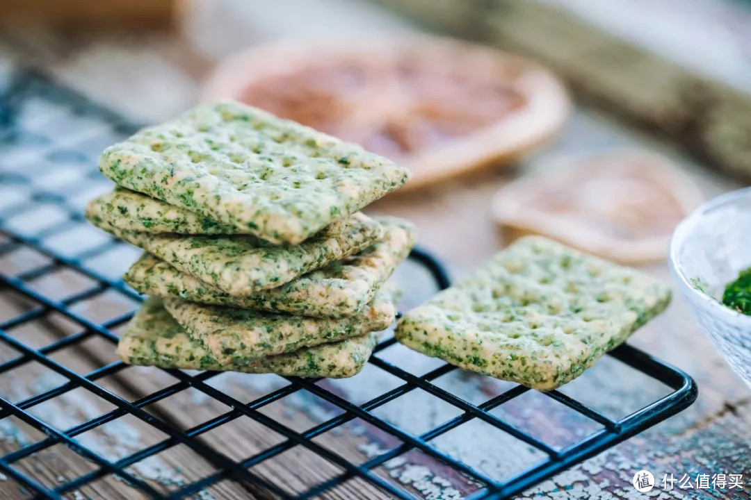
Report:
M86 218L117 229L139 232L174 232L181 235L231 235L233 226L165 203L145 194L116 187L86 205ZM246 231L247 232L247 231Z

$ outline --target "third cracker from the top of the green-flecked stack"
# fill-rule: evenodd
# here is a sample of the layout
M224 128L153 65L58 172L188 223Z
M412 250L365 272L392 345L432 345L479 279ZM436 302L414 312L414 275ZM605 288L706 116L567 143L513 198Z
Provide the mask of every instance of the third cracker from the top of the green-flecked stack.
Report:
M296 247L272 245L250 235L155 235L116 229L106 221L92 223L237 297L282 286L364 250L383 235L379 223L359 212Z

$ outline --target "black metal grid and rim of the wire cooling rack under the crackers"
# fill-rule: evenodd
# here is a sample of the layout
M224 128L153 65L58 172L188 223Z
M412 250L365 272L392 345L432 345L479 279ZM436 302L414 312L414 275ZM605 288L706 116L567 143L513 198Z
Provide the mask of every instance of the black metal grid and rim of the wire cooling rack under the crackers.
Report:
M116 130L117 133L122 136L131 133L137 128L135 124L128 122L115 112L111 112L102 106L92 103L80 94L77 94L68 88L64 88L56 82L52 82L35 73L19 71L14 73L11 79L9 79L8 85L2 93L2 97L0 97L0 158L2 158L3 148L10 147L21 140L28 139L24 139L23 130L20 130L20 121L23 121L22 118L25 103L28 103L30 99L41 99L55 103L57 106L62 106L64 112L70 113L71 116L85 115L92 120L101 121L102 123L109 125L112 130ZM95 158L98 151L82 151L82 153L88 155L87 157L90 159L84 167L86 168L86 175L89 176L89 178L95 178L95 176L98 175L98 169L96 169L95 160L92 160L92 158ZM29 186L32 185L31 176L32 174L19 172L18 169L14 169L13 172L4 169L2 159L0 159L0 180L2 180L2 183ZM17 214L23 214L24 211L33 209L38 202L52 203L62 214L65 214L65 220L62 221L62 223L55 224L50 228L35 232L31 235L20 234L19 232L12 231L6 227L6 222L10 217L14 217ZM591 409L583 403L580 403L559 391L543 393L545 396L562 403L562 405L567 406L569 409L578 412L578 414L584 415L584 417L602 426L600 430L591 433L584 439L581 439L566 448L556 449L529 433L514 427L508 422L502 420L502 418L490 413L491 410L498 406L502 406L504 403L508 403L516 397L520 397L522 394L530 391L530 389L517 385L484 403L474 405L432 383L435 379L450 373L452 370L457 370L455 367L449 364L443 364L429 373L422 376L415 376L412 373L385 361L383 358L380 358L378 353L395 343L394 338L391 337L375 347L374 355L369 360L369 363L397 377L403 383L397 388L379 394L372 400L360 405L355 405L339 395L327 391L327 389L317 385L315 379L300 379L297 377L287 377L288 385L285 387L272 391L270 394L266 394L258 399L243 402L234 397L230 397L228 394L225 394L207 384L207 381L211 379L211 377L216 376L217 373L203 372L198 373L197 375L189 375L181 370L165 370L177 380L176 383L173 383L166 388L162 388L153 394L141 397L138 400L128 401L97 384L98 379L116 374L127 367L127 365L122 364L122 362L107 364L106 366L99 367L90 373L82 375L75 373L62 364L54 361L53 358L50 358L50 355L53 355L55 352L70 346L75 346L77 343L83 342L83 340L90 337L100 337L114 346L117 342L117 337L116 334L113 334L112 329L124 324L131 317L131 313L128 313L110 319L107 322L92 322L80 314L75 313L74 310L71 309L71 307L74 304L77 304L77 302L95 297L107 290L114 290L137 301L140 301L141 299L137 293L125 286L125 284L122 283L122 280L113 280L105 277L97 271L92 271L92 269L85 265L86 259L90 259L112 250L117 245L121 245L121 242L110 239L104 244L85 250L74 256L60 255L58 252L50 249L44 244L45 238L50 238L50 236L68 231L72 227L82 223L85 223L85 221L83 220L81 210L80 208L71 205L70 196L61 196L59 193L47 190L35 189L29 199L15 205L0 208L0 232L5 235L5 242L0 244L0 256L22 247L29 247L50 258L50 262L28 271L24 271L20 274L7 275L0 273L0 289L12 289L14 292L25 296L35 304L35 307L32 307L30 310L20 313L11 319L7 319L0 324L0 345L5 344L20 353L17 358L13 358L0 364L0 377L9 370L13 370L23 364L37 362L43 365L47 370L62 375L68 380L68 382L65 382L62 385L58 385L25 400L17 401L16 403L12 403L5 398L0 398L0 420L13 415L15 418L20 419L29 426L34 427L47 435L45 439L42 439L39 442L23 446L16 451L12 451L0 457L0 472L8 475L8 477L13 478L19 484L23 485L23 487L31 490L38 498L62 498L66 493L69 494L77 488L90 484L92 481L96 481L98 478L114 474L127 481L132 487L140 490L144 495L155 499L178 499L192 496L225 478L253 484L255 487L260 487L262 490L270 493L272 496L284 499L308 499L321 496L321 494L326 493L328 490L339 484L342 484L344 481L348 481L350 478L360 478L379 488L387 496L399 499L415 499L418 498L415 496L415 493L394 482L386 480L373 471L373 469L382 466L388 462L388 460L391 460L394 457L399 457L400 455L415 449L432 457L434 460L438 460L439 462L448 465L451 469L460 472L466 478L474 481L475 484L480 485L477 490L469 495L469 499L502 499L512 496L515 493L519 493L546 478L550 478L550 476L555 475L557 472L561 472L575 464L581 463L587 458L593 457L619 442L623 442L625 439L640 433L659 421L665 420L665 418L680 412L682 409L685 409L693 403L697 395L695 383L688 375L686 375L686 373L683 373L665 362L653 358L631 346L620 346L618 349L615 349L610 353L612 357L617 358L619 361L641 373L644 373L650 378L662 382L671 388L671 392L665 395L665 397L644 406L644 408L639 409L620 420L608 418L607 416L602 415L602 413ZM436 261L436 259L433 258L433 256L430 255L430 253L418 248L412 252L410 259L424 266L424 268L430 272L436 286L440 289L445 289L449 286L450 282L445 269ZM78 292L74 295L58 300L53 300L52 298L35 291L35 289L32 289L32 287L29 286L30 280L43 277L45 274L65 268L74 269L78 273L89 277L94 281L95 285L83 292ZM12 337L7 333L12 328L17 328L26 322L39 319L52 312L62 314L62 316L77 323L77 325L80 325L81 331L77 334L62 337L47 346L36 349L26 345L23 340ZM47 400L51 400L68 391L80 388L83 388L91 394L95 394L97 397L111 403L114 406L114 409L65 430L56 429L27 411ZM166 421L156 418L144 410L144 407L160 400L164 400L180 391L185 391L188 388L201 391L201 393L207 395L207 397L225 404L230 410L187 430L180 430L173 427ZM372 413L372 410L379 406L385 405L389 401L395 400L404 394L408 394L410 391L415 391L416 389L426 391L433 397L451 404L456 409L460 410L460 415L443 422L427 432L415 435L383 420L382 418L376 417ZM280 424L272 418L269 418L267 415L259 412L259 409L264 406L302 390L309 391L327 403L336 406L338 409L342 410L342 414L330 418L329 420L300 433L289 427L285 427L285 425ZM107 424L107 422L114 421L124 415L132 415L134 418L140 419L140 421L143 421L145 424L161 431L167 437L161 442L157 442L147 448L137 451L136 453L119 458L119 460L116 461L107 460L107 458L102 457L100 454L95 453L95 451L92 451L89 448L86 448L77 441L76 437L80 434ZM285 441L254 454L251 457L246 457L244 460L232 460L225 454L222 454L219 451L204 445L204 443L198 439L195 439L196 436L207 433L210 430L216 429L217 427L242 416L252 418L252 420L263 424L265 427L276 433L279 433L281 436L285 437ZM372 425L382 432L388 433L388 435L394 436L394 438L398 439L402 444L357 465L345 460L345 458L313 441L316 436L327 433L328 431L342 426L342 424L356 418ZM457 460L456 457L451 457L451 455L446 454L439 448L436 448L435 445L431 444L431 441L436 437L474 419L483 421L496 427L496 429L508 433L515 439L541 451L546 458L540 463L537 463L531 468L520 472L511 478L507 478L504 481L498 481L494 478L488 477L483 472L473 469L466 463L462 463L460 460ZM77 478L51 488L45 487L39 481L29 478L27 475L24 475L23 472L20 472L17 468L13 467L13 464L17 463L19 460L31 457L39 451L61 443L86 460L95 463L98 469L87 472L86 474L80 475ZM140 460L152 457L155 454L161 453L161 451L165 451L176 445L185 445L197 454L206 458L216 468L215 472L198 481L185 484L179 488L179 490L165 494L156 490L142 478L125 470L128 466L138 463ZM316 484L306 492L300 493L297 496L291 496L290 493L282 490L278 485L273 484L273 482L266 478L261 478L249 470L252 466L263 463L264 460L269 460L272 457L282 454L284 451L298 446L306 448L314 454L317 454L319 457L339 466L343 472L327 481L322 481L321 484Z

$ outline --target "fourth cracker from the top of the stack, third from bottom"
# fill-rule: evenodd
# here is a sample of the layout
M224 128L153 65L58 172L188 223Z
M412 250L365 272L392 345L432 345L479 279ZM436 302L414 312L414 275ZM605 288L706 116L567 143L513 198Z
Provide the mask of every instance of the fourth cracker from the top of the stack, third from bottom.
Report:
M144 253L125 273L125 282L146 295L201 304L339 318L357 314L415 246L415 226L396 217L376 217L381 241L361 253L304 274L278 288L234 297Z

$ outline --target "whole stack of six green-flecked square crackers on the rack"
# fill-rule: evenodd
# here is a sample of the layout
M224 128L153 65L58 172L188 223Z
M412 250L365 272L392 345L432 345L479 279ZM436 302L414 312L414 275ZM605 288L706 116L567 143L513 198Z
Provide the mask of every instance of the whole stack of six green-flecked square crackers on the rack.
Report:
M104 151L86 217L146 253L130 364L347 377L394 322L382 288L415 229L360 208L409 172L239 103L201 105Z

